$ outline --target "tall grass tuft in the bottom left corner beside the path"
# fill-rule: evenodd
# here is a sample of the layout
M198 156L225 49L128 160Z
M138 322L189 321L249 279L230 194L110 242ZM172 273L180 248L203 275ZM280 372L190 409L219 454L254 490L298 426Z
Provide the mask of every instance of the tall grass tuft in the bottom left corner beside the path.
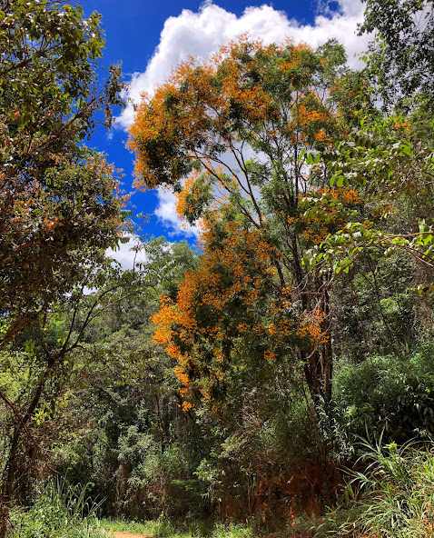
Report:
M35 504L11 511L10 538L99 538L96 510L99 504L87 496L88 485L71 485L54 477L36 495Z

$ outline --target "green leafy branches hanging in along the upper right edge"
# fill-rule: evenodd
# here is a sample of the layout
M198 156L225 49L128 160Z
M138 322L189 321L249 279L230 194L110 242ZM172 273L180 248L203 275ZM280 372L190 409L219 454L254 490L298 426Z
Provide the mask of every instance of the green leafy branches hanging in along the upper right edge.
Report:
M432 293L432 2L366 0L366 4L360 35L376 33L364 58L367 68L355 79L352 74L341 77L344 85L339 84L337 91L343 90L344 102L349 97L353 101L351 86L360 76L366 79L365 87L370 79L370 91L380 97L384 110L362 102L348 138L324 154L330 186L357 189L365 208L345 213L343 204L330 197L319 204L306 198L307 218L319 211L346 214L346 225L315 245L306 260L311 268L330 274L331 284L339 274L355 274L358 264L372 255L393 259L408 254L413 288L419 294Z

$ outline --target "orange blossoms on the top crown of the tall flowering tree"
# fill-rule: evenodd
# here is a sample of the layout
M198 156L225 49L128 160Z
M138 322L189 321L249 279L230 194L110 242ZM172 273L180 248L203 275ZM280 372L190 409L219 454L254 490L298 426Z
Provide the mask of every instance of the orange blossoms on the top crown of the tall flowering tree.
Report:
M178 65L137 107L129 140L137 156L134 186L179 186L187 180L188 192L189 175L198 164L202 172L210 171L211 164L216 179L214 161L234 153L240 129L259 143L288 139L330 144L339 118L311 89L314 54L305 44L266 46L243 35L208 62L190 58ZM180 197L181 213L184 203L185 195Z

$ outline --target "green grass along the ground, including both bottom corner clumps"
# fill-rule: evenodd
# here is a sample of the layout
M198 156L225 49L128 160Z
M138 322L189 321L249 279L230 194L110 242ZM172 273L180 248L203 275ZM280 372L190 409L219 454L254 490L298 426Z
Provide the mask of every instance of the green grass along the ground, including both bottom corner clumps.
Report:
M304 518L287 535L317 538L434 537L434 447L360 442L338 503L321 518ZM106 538L111 531L155 538L253 538L246 525L98 521L86 488L50 481L27 511L12 511L9 538Z

